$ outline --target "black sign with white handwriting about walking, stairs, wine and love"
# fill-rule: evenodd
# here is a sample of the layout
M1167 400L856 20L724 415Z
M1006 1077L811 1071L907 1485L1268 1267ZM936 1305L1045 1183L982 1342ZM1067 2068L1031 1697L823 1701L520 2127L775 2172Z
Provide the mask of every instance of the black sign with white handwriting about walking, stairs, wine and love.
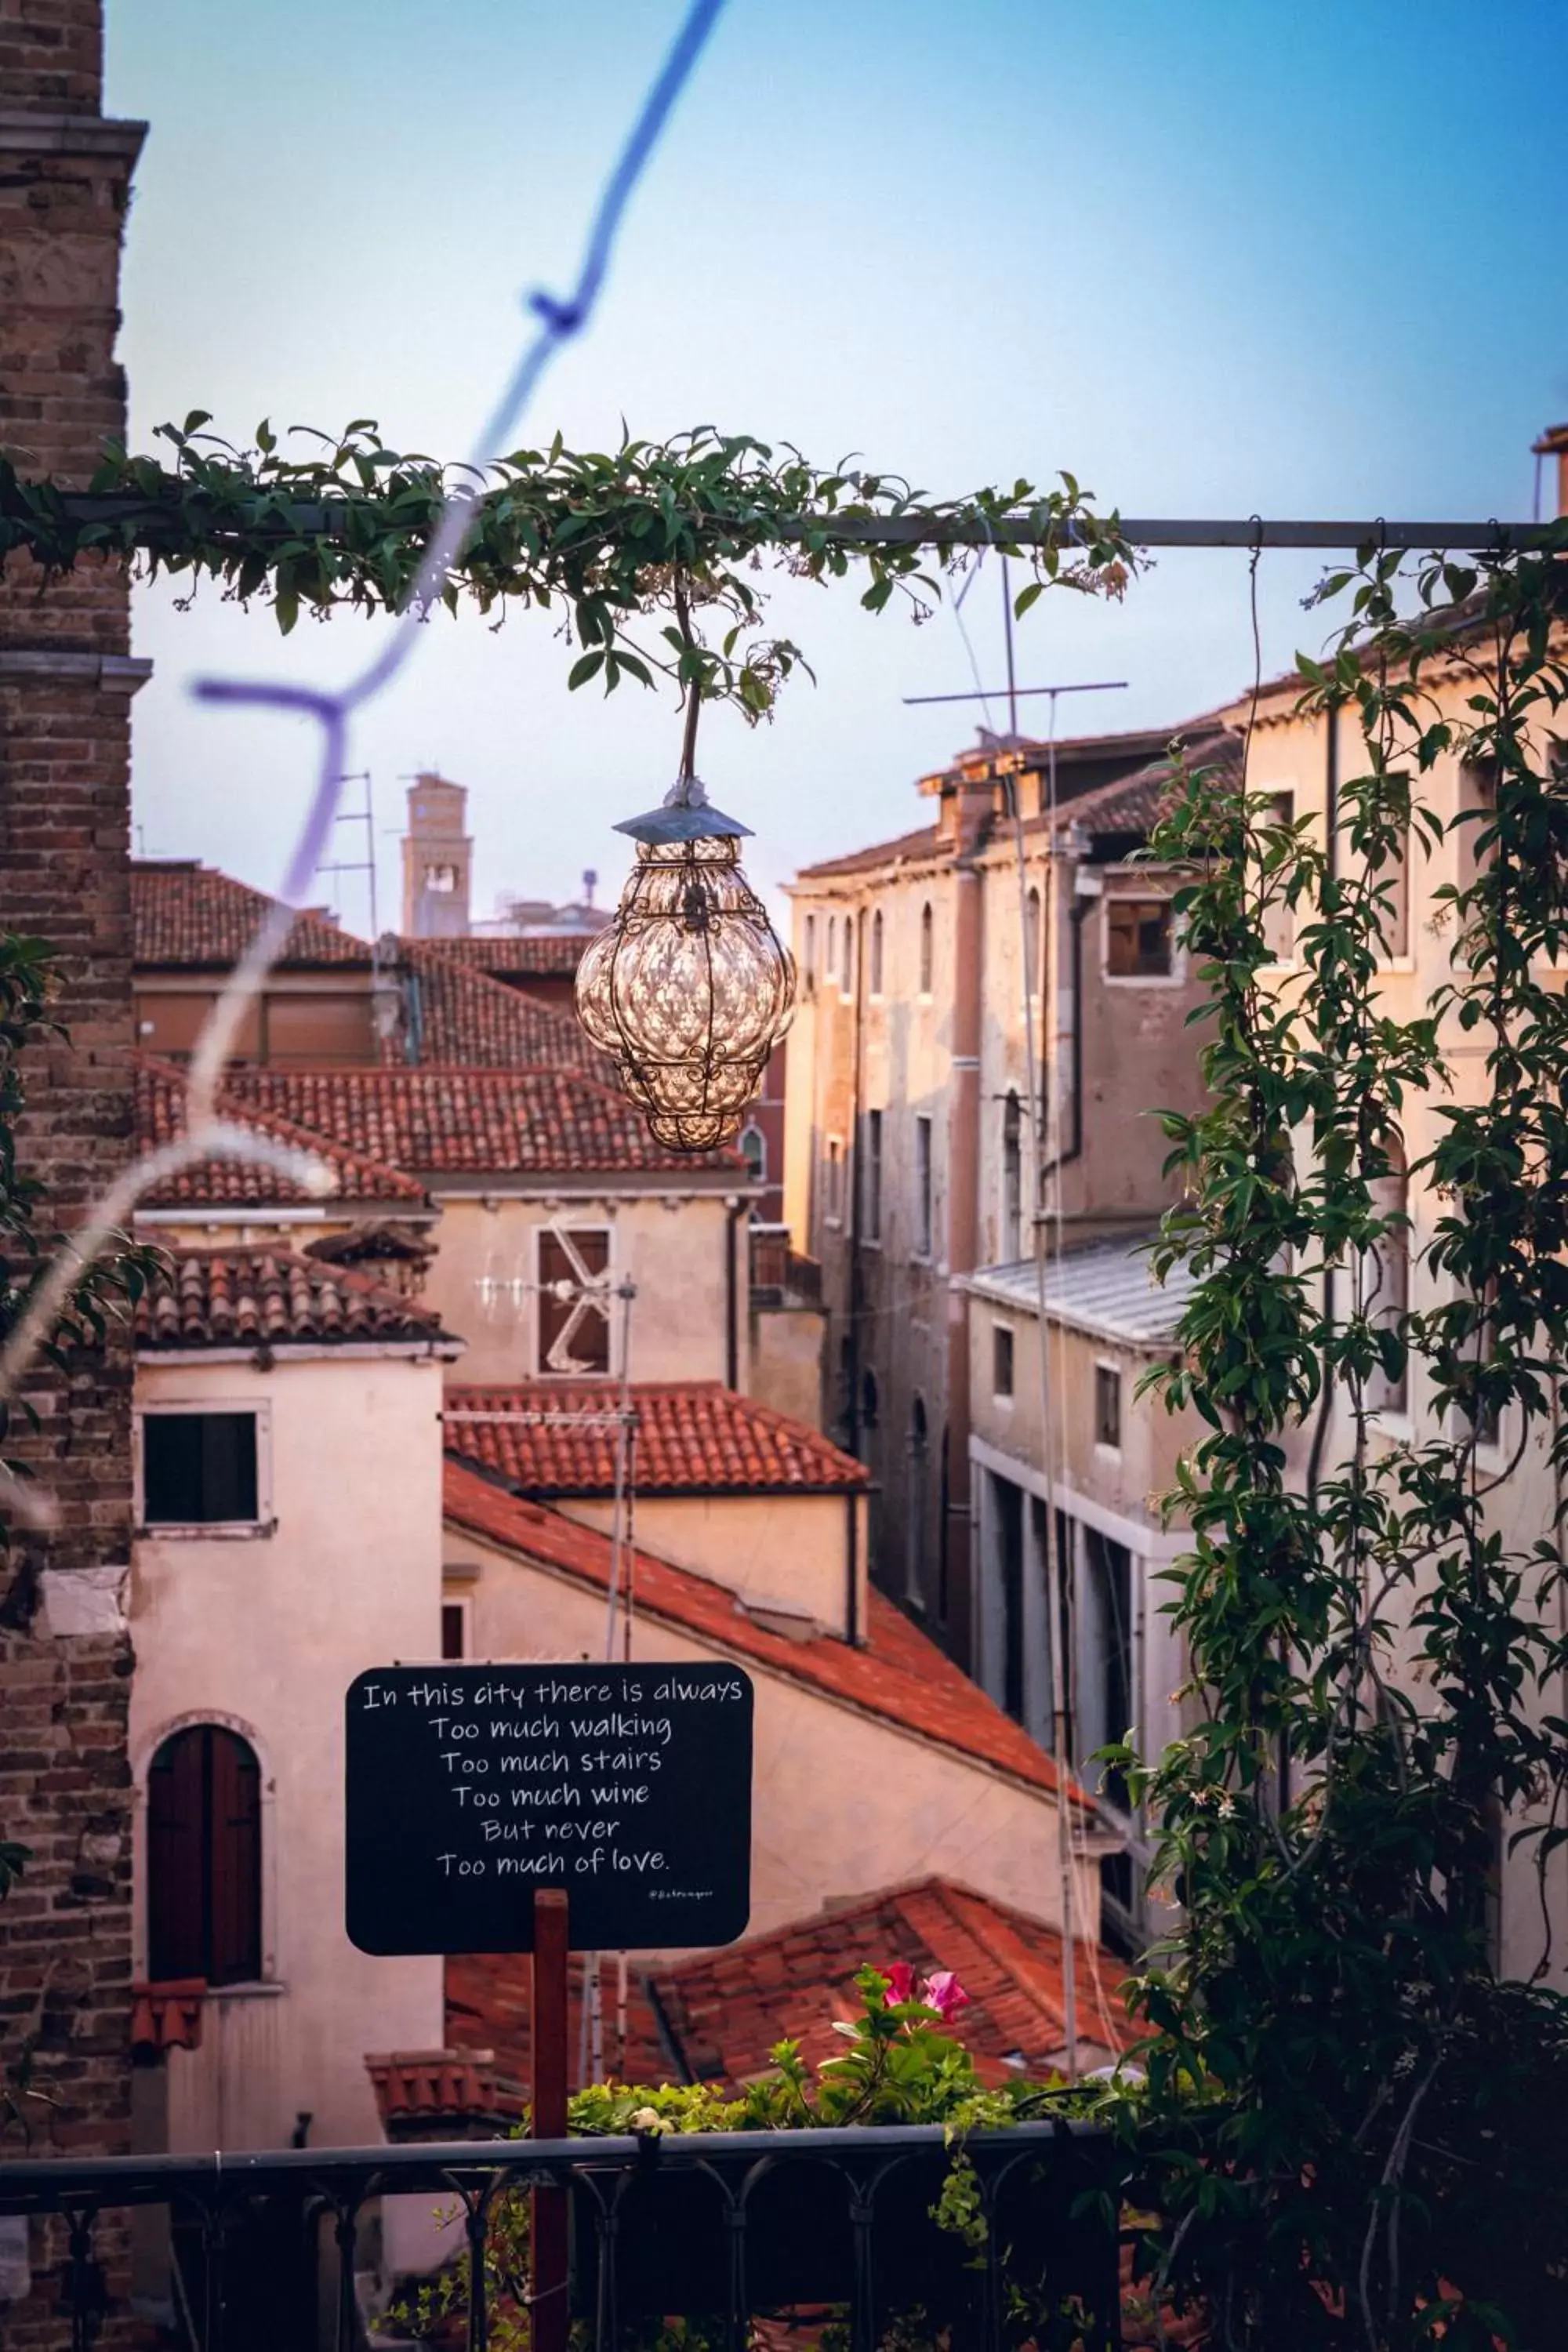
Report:
M738 1665L388 1665L348 1689L348 1936L362 1952L733 1943L750 1915Z

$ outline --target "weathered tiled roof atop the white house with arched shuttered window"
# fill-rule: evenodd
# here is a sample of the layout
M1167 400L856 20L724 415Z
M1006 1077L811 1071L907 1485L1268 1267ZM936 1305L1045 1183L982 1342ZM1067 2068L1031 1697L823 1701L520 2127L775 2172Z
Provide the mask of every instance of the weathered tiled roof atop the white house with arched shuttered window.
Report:
M136 1348L444 1341L435 1315L364 1275L282 1249L186 1249L136 1303Z

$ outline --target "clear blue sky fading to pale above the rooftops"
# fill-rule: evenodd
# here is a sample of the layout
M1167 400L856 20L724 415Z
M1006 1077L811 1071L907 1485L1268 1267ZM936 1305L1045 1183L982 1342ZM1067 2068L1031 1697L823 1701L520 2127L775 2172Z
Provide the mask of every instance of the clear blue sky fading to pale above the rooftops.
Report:
M576 268L677 14L108 0L106 106L150 120L134 442L190 407L235 440L369 414L395 447L461 456L520 294ZM931 494L1067 466L1145 515L1528 515L1530 440L1568 416L1566 35L1568 0L729 0L527 437L710 421ZM1269 668L1321 635L1312 576L1265 557ZM971 682L947 614L872 621L851 586L783 588L773 614L820 684L759 731L710 715L701 757L769 884L917 823L914 779L978 717L900 703ZM966 621L997 677L994 581ZM141 590L146 851L275 882L313 736L200 710L188 684L336 680L371 628L284 642L261 607ZM1018 659L1025 682L1131 682L1079 699L1084 731L1178 724L1251 673L1246 557L1166 555L1124 607L1046 595ZM498 889L571 896L585 866L616 887L609 828L675 774L677 720L635 687L569 696L569 661L543 616L442 619L364 715L383 920L418 764L470 788L482 913ZM357 880L339 903L362 927Z

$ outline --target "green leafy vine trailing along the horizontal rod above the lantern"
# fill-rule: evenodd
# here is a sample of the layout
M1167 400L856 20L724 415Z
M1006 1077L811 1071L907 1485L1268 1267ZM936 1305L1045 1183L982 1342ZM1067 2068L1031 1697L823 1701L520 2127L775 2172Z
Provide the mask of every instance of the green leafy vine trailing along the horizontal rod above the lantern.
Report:
M1020 612L1053 581L1121 595L1135 569L1117 517L1098 517L1072 475L1058 489L1018 480L931 503L896 475L823 470L795 449L701 426L672 442L628 435L609 454L571 452L557 435L463 482L435 459L388 449L371 419L336 440L280 437L261 423L249 449L207 426L205 409L158 426L167 456L110 442L87 496L26 482L0 459L0 557L21 548L45 576L118 555L146 576L193 588L212 579L242 604L270 602L287 633L301 612L400 609L437 515L454 487L468 489L473 517L440 593L449 612L463 600L496 621L512 607L555 612L578 649L571 687L696 677L750 720L804 666L797 644L766 633L764 564L809 581L860 569L870 612L900 597L917 619L940 593L938 574L966 560L966 532L1027 555ZM936 572L919 546L846 536L900 520L929 524ZM1020 532L1039 543L1020 548ZM677 586L708 614L712 642L684 642Z

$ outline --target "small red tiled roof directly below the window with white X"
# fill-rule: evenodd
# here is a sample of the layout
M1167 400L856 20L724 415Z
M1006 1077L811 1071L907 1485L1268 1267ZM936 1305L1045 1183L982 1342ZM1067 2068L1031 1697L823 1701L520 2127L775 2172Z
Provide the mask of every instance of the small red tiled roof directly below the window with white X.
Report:
M449 1388L447 1451L520 1494L614 1494L614 1428L522 1421L458 1421L456 1414L604 1414L616 1390L599 1383L529 1381L517 1388ZM722 1381L639 1381L637 1494L849 1494L867 1472L804 1421L738 1397Z

